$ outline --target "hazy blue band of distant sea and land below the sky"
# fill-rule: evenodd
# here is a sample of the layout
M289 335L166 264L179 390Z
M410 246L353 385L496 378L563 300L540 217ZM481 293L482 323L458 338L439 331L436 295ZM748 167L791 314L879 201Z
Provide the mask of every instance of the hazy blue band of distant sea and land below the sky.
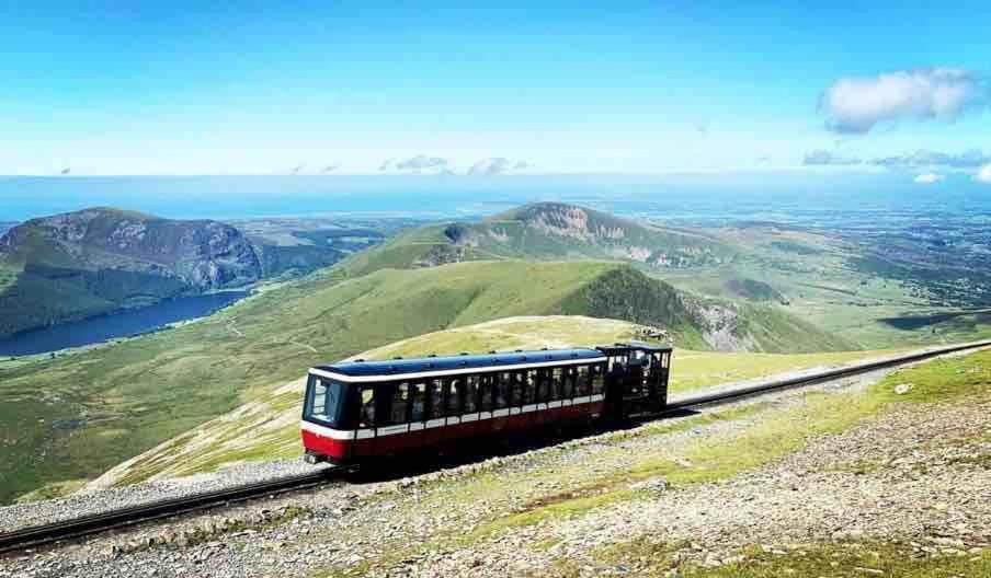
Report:
M897 210L991 213L987 187L950 175L924 187L903 173L671 175L0 176L0 221L114 207L173 219L479 217L565 201L665 220Z

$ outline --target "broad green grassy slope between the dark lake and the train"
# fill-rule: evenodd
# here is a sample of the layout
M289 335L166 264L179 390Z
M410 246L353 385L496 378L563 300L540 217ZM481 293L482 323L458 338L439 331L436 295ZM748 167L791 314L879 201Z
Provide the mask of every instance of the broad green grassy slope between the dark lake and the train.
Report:
M560 313L570 294L617 267L466 263L340 282L315 277L172 331L2 363L0 501L99 474L311 365L446 327ZM569 303L569 313L582 313Z

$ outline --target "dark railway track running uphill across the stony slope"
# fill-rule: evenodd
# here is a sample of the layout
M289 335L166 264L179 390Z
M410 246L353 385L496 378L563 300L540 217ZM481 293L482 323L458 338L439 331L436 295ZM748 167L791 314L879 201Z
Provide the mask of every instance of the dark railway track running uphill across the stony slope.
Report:
M904 356L856 363L838 369L831 369L813 374L799 375L789 379L772 380L753 385L732 390L703 393L677 398L668 404L662 417L693 407L713 406L724 403L732 403L747 397L753 397L765 393L787 390L791 388L812 385L832 381L840 378L852 377L879 369L902 366L914 361L922 361L941 355L979 349L991 346L991 340L973 342L947 347L932 348ZM639 416L641 419L648 416ZM135 525L152 520L169 518L181 513L208 510L242 502L251 499L264 498L287 492L312 488L333 482L341 474L341 469L329 467L319 472L298 476L287 476L257 484L246 484L226 489L184 496L148 505L121 508L107 512L82 516L69 520L22 528L11 532L0 533L0 554L37 547L56 542L78 539L91 534L106 532Z

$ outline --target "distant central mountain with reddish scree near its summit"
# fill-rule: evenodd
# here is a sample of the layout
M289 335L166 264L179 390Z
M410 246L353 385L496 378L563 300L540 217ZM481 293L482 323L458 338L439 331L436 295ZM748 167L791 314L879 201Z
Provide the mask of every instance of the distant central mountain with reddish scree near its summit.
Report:
M657 227L563 203L536 203L481 222L428 226L364 252L355 275L480 259L619 259L658 269L719 265L733 250L708 235Z

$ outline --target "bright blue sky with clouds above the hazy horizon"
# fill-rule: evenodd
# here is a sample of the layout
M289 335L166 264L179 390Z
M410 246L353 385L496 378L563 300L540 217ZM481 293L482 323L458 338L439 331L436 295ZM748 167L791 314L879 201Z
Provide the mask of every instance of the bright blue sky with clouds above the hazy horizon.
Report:
M571 3L9 2L0 174L991 163L987 2Z

